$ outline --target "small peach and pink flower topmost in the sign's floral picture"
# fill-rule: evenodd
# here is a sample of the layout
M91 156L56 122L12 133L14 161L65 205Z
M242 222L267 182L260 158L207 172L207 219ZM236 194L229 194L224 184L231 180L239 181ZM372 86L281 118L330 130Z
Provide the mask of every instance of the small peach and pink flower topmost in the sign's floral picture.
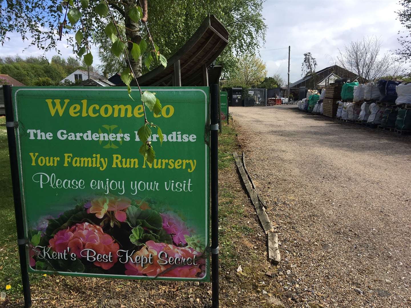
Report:
M105 196L87 202L84 207L87 209L87 213L96 214L97 218L103 218L106 212L112 211L118 221L124 222L127 218L125 210L130 205L129 198Z

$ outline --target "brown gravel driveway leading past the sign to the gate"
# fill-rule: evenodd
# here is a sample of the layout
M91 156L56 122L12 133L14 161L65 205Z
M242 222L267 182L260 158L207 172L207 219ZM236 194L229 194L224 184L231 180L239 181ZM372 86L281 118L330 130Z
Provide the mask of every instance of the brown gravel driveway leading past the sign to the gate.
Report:
M411 307L411 137L296 106L230 107L278 225L286 307Z

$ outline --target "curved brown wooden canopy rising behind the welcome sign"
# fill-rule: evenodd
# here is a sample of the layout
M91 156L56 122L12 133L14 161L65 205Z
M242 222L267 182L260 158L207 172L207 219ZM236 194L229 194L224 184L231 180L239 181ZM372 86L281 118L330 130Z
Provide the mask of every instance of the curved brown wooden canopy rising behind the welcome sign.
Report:
M210 15L187 43L167 60L166 68L159 66L137 78L137 81L141 86L207 86L207 67L219 56L228 41L229 33L224 25ZM175 75L181 76L181 83ZM135 80L132 85L136 85Z

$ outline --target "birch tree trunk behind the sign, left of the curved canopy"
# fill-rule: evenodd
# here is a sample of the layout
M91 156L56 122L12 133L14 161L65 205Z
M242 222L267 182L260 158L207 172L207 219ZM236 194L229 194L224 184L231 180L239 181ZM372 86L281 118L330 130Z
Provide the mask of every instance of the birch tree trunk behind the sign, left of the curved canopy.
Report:
M125 30L126 30L127 40L132 41L133 43L136 43L136 44L140 44L141 35L140 35L139 23L134 22L129 17L129 11L134 5L135 5L134 2L132 1L125 2L124 4L124 13L125 13L124 24L126 28ZM141 56L138 61L135 61L134 58L132 57L131 50L133 48L133 43L128 42L127 49L128 49L131 67L134 71L134 74L136 75L136 78L138 78L141 76Z

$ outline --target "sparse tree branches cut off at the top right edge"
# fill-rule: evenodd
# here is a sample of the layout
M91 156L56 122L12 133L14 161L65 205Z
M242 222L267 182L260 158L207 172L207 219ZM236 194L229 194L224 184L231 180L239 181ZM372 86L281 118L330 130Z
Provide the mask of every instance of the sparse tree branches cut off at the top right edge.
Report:
M411 60L411 0L400 0L402 9L397 11L400 23L406 30L398 31L401 36L398 38L401 48L396 50L400 60L409 62Z

